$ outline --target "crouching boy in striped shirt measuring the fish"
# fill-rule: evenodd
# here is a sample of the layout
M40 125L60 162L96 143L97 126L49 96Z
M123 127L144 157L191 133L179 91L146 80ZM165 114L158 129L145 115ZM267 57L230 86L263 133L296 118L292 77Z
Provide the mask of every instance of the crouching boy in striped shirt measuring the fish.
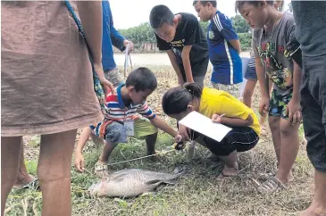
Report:
M117 87L116 94L107 97L106 105L109 112L103 121L83 129L75 152L75 168L84 171L82 149L91 133L104 138L104 149L96 162L96 174L108 175L107 161L113 149L119 143L126 143L127 137L146 138L147 154L155 154L157 128L175 137L180 135L166 124L146 103L147 96L157 87L157 81L152 71L138 68L128 76L126 84Z

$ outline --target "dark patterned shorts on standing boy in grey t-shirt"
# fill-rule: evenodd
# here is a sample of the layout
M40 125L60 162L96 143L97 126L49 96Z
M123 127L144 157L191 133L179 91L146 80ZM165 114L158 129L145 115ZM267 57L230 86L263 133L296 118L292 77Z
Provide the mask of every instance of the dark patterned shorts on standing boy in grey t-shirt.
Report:
M286 114L286 108L288 102L291 99L292 99L292 92L288 95L281 96L278 95L275 89L272 90L269 116L280 116L281 118L288 120L288 115Z

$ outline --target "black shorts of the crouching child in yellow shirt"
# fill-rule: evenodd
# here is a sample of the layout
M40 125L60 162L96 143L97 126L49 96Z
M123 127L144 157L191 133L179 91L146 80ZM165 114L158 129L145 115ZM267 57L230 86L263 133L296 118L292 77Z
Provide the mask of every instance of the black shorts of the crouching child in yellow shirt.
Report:
M193 137L198 143L207 147L213 154L219 156L227 156L234 151L247 152L255 147L259 140L255 130L249 127L232 128L221 142L217 142L197 132L194 133Z

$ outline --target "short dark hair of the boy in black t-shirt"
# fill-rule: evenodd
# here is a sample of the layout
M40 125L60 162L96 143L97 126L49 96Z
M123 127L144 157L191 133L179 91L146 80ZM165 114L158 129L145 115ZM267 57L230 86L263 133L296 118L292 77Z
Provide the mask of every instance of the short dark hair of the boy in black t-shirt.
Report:
M171 10L163 5L159 4L153 7L149 14L149 22L153 29L160 28L164 23L173 25L174 14Z

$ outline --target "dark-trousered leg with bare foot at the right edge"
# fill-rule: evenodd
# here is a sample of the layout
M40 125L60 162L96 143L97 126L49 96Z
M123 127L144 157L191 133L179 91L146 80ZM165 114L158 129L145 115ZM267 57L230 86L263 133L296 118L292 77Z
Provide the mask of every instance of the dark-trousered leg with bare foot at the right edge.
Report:
M302 216L326 215L326 55L304 57L301 106L307 154L314 167L314 196Z

